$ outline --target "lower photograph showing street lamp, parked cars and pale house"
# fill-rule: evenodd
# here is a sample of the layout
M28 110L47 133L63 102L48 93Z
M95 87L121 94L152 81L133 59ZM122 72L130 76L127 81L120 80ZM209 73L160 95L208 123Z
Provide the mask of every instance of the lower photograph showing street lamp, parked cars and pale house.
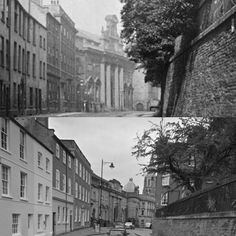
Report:
M236 234L236 118L0 125L1 236Z

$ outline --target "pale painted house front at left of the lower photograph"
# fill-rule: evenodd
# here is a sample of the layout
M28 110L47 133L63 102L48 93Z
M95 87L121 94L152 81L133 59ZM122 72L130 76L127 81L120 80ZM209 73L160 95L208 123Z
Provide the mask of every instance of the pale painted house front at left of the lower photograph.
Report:
M0 124L1 234L52 235L52 152L15 120Z

